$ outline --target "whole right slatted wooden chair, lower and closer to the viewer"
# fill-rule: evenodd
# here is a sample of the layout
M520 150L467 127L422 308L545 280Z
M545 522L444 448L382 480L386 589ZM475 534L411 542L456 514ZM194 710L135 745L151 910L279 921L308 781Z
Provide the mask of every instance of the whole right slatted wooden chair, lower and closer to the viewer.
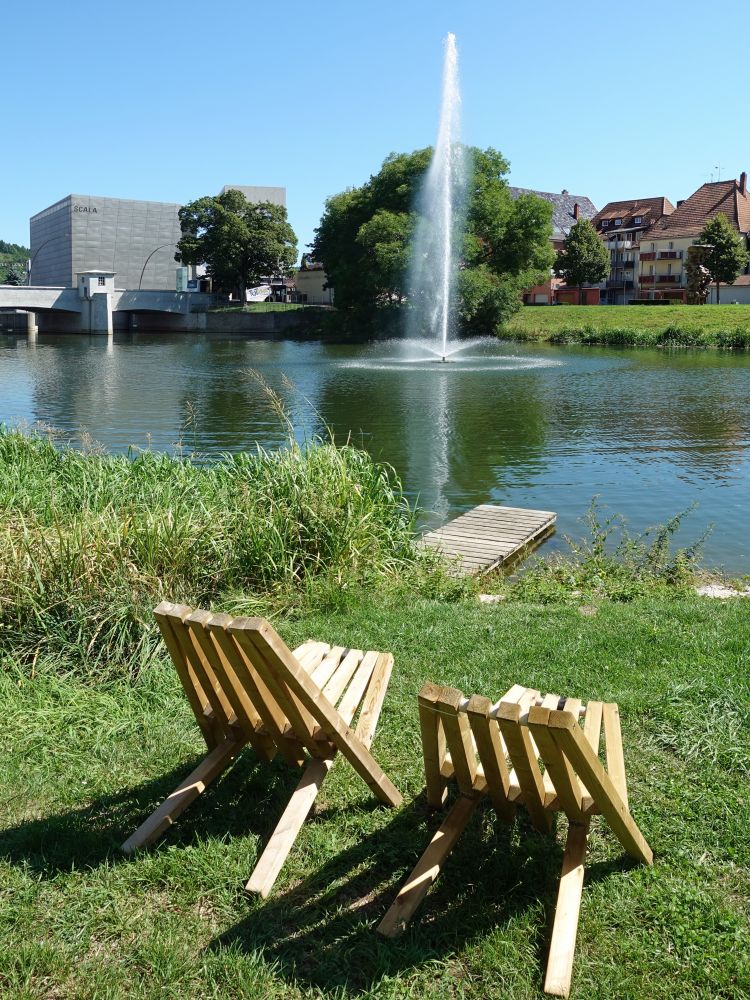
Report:
M553 812L564 812L568 836L544 989L567 997L591 817L601 813L629 854L645 864L653 860L628 809L617 705L590 701L584 707L576 698L541 697L518 684L493 705L428 683L419 693L419 722L429 806L443 804L451 777L460 794L379 933L392 937L406 927L484 795L508 822L523 805L542 831L550 828ZM606 770L598 756L602 723Z

